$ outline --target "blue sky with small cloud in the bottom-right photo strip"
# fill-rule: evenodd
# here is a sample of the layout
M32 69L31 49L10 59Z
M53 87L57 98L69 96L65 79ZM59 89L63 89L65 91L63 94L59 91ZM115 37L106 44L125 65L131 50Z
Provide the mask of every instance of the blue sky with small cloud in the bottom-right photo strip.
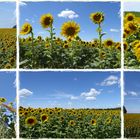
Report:
M140 72L125 72L124 104L129 113L140 113Z

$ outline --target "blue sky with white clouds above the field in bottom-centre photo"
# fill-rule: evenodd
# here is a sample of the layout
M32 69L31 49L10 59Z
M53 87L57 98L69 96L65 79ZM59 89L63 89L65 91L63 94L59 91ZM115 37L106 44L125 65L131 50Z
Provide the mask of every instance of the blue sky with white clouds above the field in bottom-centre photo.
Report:
M119 72L20 72L24 107L120 106Z

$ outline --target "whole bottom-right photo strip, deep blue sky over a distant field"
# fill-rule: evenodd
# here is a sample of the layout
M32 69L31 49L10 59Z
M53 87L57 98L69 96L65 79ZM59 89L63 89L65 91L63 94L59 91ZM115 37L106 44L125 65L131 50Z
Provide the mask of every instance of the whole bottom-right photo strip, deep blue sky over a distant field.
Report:
M140 72L124 72L124 136L140 138Z

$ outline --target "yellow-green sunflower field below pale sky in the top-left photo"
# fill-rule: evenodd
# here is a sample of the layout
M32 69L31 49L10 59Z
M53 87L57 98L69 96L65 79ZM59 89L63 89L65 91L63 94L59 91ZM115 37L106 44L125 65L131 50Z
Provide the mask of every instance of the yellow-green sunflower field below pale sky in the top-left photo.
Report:
M0 69L16 67L16 29L0 29Z

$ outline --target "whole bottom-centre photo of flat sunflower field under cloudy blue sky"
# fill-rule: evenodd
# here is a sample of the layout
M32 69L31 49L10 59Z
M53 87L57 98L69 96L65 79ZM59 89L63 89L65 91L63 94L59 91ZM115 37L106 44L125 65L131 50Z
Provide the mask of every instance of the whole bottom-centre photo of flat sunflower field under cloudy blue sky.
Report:
M120 72L20 72L20 138L120 138Z

